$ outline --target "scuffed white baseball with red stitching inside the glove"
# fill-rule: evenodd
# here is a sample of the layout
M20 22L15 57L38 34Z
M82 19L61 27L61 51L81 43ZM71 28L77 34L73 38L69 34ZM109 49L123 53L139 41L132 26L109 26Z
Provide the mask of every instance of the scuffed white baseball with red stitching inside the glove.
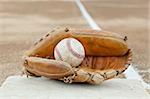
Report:
M76 67L81 64L85 57L83 45L74 38L61 40L54 49L54 57Z

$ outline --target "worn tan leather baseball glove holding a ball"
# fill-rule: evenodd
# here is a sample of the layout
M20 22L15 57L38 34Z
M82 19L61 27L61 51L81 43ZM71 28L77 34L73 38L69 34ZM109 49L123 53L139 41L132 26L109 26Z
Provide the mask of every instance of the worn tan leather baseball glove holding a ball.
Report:
M85 58L77 67L54 59L55 46L68 37L77 39L85 48ZM130 65L132 53L126 40L126 36L106 31L56 29L25 52L24 73L27 76L44 76L65 83L99 84L122 74Z

